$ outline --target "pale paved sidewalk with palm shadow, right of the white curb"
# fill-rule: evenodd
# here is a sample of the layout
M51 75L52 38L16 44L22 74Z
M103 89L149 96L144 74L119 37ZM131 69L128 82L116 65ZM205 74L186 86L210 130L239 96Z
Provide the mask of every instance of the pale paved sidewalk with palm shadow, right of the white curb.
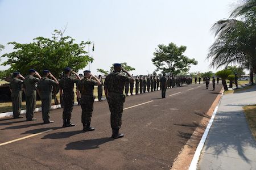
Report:
M256 104L256 86L222 97L198 169L256 169L256 142L242 108L251 104Z

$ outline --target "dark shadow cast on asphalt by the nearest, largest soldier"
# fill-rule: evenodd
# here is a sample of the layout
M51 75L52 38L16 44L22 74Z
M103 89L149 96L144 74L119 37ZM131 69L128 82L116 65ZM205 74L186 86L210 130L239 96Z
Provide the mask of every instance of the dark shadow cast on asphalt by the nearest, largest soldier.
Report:
M66 145L65 150L92 150L99 148L100 145L114 141L113 138L88 139L77 142L71 142Z

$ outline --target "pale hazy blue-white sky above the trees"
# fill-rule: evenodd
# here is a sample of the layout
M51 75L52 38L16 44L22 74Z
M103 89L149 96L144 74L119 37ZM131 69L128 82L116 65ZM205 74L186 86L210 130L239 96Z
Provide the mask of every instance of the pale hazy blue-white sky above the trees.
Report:
M76 42L94 42L95 50L90 51L93 74L98 74L96 69L109 70L115 62L127 62L136 69L134 75L152 73L155 49L170 42L187 46L185 56L198 61L189 72L215 72L205 59L214 42L210 28L217 20L228 18L237 2L0 0L0 44L6 46L0 55L14 51L7 42L29 43L38 36L51 37L53 30L67 26L65 35Z

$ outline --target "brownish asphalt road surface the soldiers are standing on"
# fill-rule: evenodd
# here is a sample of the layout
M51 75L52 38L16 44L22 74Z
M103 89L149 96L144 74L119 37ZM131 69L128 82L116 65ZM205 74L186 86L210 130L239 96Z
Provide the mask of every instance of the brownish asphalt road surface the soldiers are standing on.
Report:
M127 97L120 130L125 137L115 140L107 101L94 103L96 130L86 133L80 106L73 108L76 126L70 128L61 128L62 109L51 111L53 124L42 124L40 112L36 121L0 120L0 169L170 169L221 91L220 84L211 88L172 88L166 99L160 91ZM28 138L1 146L23 137Z

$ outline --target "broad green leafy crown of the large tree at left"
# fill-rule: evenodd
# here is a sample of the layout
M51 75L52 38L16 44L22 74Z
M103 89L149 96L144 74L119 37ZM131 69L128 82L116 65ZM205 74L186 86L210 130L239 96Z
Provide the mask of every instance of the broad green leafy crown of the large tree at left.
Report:
M93 61L84 50L86 42L75 43L72 37L63 37L63 32L55 30L51 39L36 37L29 44L19 44L9 42L14 45L14 52L3 54L7 61L2 65L10 65L6 74L13 71L20 71L26 75L28 69L34 68L39 73L43 69L48 69L53 75L59 78L60 73L65 67L71 67L78 71Z

